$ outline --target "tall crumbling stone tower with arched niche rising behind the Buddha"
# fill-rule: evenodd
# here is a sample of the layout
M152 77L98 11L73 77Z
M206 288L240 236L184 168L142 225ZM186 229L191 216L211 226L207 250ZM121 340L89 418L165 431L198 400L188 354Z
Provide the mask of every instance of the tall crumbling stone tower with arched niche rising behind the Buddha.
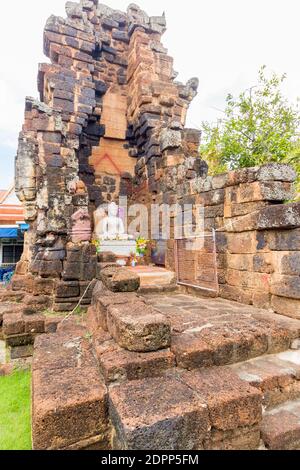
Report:
M40 101L26 100L16 159L16 190L31 225L18 280L64 311L96 277L93 247L70 246L76 217L92 220L120 195L160 195L174 171L183 181L203 168L190 161L199 132L184 129L198 80L175 81L161 43L165 17L97 2L69 2L66 11L67 19L47 21L51 64L39 66Z

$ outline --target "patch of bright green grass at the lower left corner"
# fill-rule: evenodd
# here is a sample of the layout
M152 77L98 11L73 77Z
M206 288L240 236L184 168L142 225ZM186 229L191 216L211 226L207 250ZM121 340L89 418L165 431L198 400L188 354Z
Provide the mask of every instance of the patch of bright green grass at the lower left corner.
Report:
M28 371L0 377L0 450L31 450Z

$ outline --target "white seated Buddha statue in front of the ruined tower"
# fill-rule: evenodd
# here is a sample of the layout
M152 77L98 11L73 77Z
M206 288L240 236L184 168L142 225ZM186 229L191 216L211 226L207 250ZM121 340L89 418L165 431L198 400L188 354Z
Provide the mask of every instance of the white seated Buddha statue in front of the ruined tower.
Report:
M108 205L108 216L104 217L96 226L96 235L99 240L131 240L125 234L123 220L118 216L119 207L112 202Z

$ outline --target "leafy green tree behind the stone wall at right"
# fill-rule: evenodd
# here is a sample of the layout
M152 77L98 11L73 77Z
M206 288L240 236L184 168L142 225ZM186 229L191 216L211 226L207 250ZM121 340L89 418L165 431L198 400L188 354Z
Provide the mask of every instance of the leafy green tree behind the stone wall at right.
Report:
M300 114L282 94L285 79L268 78L263 66L257 85L227 96L224 117L203 123L201 155L211 174L269 162L290 162L300 171Z

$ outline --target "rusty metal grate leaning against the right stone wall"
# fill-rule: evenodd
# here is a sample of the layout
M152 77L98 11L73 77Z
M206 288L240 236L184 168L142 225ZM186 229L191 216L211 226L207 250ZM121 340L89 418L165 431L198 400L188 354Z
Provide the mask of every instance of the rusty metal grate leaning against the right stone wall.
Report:
M177 282L208 291L219 291L215 231L176 240Z

